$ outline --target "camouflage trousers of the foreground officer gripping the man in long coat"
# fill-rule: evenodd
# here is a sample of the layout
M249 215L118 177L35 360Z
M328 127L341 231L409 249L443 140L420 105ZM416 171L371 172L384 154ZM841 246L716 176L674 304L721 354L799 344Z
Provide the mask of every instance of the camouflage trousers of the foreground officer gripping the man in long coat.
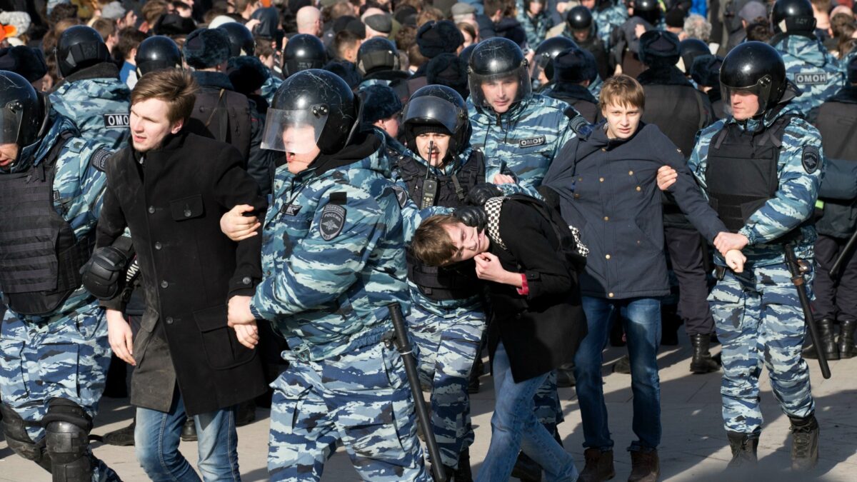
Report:
M384 343L321 361L289 357L275 380L268 473L319 480L341 442L364 480L430 481L405 365Z

